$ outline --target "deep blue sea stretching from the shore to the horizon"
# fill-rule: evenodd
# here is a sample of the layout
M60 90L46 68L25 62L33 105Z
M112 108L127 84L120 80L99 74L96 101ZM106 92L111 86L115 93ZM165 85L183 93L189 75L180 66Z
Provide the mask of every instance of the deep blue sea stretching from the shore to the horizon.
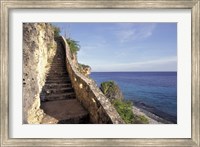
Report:
M92 72L97 85L115 81L126 100L171 123L177 123L177 72Z

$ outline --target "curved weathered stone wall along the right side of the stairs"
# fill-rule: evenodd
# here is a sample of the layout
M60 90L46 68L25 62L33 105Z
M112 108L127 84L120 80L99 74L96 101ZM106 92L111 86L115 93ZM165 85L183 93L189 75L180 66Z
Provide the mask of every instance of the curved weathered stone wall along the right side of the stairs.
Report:
M109 100L100 91L96 83L82 75L74 66L71 59L70 50L64 37L61 37L63 46L66 50L67 70L75 89L76 97L89 112L90 122L95 124L101 123L124 123L115 108Z

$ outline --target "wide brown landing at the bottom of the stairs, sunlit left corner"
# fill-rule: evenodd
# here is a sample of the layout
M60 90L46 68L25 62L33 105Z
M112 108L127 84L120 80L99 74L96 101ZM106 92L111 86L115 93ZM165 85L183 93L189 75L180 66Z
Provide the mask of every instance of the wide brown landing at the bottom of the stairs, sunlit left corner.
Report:
M46 113L42 124L87 124L88 112L76 99L43 102L41 108Z

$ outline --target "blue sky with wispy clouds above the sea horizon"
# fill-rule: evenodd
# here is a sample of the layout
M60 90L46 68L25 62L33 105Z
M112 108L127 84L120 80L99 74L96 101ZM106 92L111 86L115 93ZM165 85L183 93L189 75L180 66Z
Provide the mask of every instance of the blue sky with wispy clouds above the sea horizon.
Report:
M92 71L177 71L176 23L53 23Z

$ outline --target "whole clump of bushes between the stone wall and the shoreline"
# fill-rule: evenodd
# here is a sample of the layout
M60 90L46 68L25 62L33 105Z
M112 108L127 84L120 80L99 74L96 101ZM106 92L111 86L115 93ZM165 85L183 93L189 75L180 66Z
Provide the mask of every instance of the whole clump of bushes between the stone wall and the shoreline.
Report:
M113 104L121 118L128 124L147 124L148 119L143 115L136 115L133 113L133 103L131 101L124 100L123 94L114 81L106 81L101 83L100 89L103 94Z

